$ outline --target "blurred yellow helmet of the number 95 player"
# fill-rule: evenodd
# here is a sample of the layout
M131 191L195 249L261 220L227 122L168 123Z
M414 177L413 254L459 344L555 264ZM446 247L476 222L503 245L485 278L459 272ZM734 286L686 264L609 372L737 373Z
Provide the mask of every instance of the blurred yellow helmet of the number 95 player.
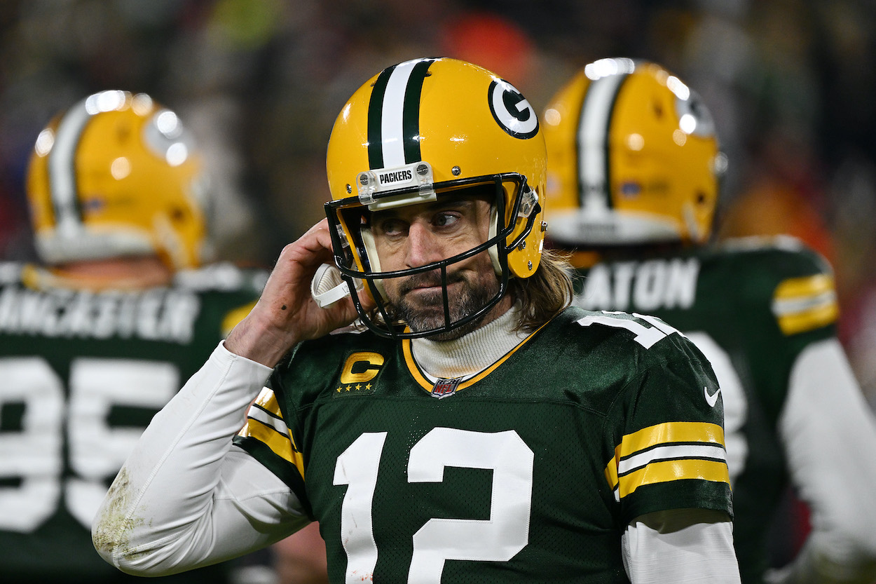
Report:
M102 91L39 133L27 196L47 264L157 254L196 267L206 239L201 154L145 94Z

